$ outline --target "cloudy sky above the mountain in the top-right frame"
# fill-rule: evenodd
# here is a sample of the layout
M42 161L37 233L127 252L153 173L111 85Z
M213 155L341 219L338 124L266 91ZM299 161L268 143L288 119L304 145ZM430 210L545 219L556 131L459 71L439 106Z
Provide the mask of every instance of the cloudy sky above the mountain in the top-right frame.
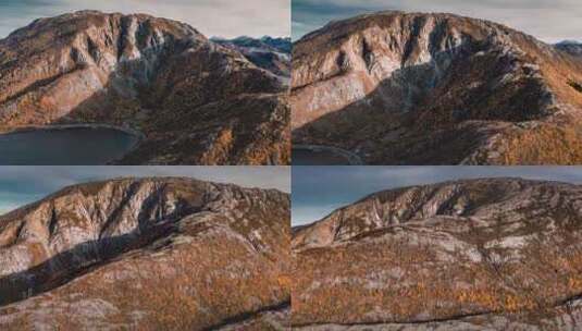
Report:
M381 10L449 12L504 23L547 41L582 40L581 0L292 0L293 38Z

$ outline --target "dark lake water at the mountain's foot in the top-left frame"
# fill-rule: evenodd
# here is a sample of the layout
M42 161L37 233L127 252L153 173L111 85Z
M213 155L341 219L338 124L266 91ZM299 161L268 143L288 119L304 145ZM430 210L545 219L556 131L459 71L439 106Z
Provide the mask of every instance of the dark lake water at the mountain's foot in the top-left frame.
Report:
M91 166L122 158L139 137L110 127L46 128L0 135L3 166Z

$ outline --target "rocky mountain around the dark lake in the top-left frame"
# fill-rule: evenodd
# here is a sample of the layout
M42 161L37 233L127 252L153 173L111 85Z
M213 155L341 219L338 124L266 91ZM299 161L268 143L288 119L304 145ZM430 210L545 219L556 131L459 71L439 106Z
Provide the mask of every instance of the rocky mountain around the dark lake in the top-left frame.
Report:
M145 135L120 163L287 164L288 122L284 81L179 22L83 11L0 40L0 131L104 123Z

